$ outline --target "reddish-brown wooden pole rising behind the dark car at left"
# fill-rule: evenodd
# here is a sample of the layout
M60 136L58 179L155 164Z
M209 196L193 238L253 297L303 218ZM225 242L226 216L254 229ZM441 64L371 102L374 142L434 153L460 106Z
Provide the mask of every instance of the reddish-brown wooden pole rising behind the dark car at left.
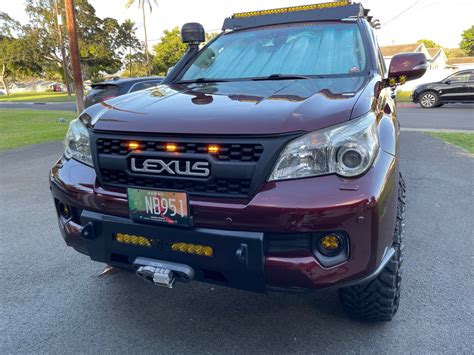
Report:
M80 113L84 110L84 84L82 82L81 58L79 56L79 44L77 42L74 0L65 0L64 5L66 8L66 23L69 37L72 76L74 78L74 89L76 91L76 108L77 112Z

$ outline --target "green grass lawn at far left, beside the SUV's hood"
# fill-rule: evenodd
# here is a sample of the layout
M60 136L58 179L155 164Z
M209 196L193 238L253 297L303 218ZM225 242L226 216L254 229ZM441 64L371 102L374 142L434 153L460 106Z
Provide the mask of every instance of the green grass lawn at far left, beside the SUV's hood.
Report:
M0 109L0 150L61 140L75 116L70 111ZM59 123L61 117L65 123Z

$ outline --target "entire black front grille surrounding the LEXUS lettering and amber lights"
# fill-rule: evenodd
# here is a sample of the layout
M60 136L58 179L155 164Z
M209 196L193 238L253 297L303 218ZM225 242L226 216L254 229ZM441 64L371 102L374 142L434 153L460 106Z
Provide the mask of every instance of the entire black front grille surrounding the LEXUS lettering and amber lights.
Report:
M111 136L91 132L91 146L97 177L104 186L179 190L186 191L191 196L248 200L265 183L282 147L301 134L293 132L271 136ZM129 147L130 142L137 143L134 149ZM166 151L167 144L176 145L173 154ZM219 151L210 153L210 145L217 145ZM132 158L207 161L211 175L199 178L133 171ZM184 169L184 165L182 168Z

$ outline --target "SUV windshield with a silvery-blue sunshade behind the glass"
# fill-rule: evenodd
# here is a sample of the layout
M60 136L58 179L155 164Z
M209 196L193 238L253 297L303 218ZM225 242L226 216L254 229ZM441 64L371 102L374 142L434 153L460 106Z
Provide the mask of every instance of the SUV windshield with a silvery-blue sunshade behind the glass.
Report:
M365 66L356 24L295 24L222 35L202 51L181 81L349 75Z

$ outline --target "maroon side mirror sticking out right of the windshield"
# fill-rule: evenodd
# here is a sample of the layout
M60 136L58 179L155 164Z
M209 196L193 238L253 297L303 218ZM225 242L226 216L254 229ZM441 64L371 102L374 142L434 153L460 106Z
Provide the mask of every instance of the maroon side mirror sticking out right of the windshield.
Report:
M401 53L392 58L388 71L388 86L403 85L409 80L421 78L428 69L423 53Z

